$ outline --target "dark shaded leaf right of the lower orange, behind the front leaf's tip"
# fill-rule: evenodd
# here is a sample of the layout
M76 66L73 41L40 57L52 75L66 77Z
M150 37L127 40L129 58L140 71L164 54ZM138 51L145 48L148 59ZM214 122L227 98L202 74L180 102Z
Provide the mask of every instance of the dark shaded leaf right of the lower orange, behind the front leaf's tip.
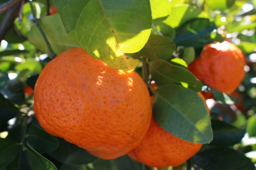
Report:
M212 120L213 140L210 144L217 146L233 146L244 137L245 130L239 129L226 122Z

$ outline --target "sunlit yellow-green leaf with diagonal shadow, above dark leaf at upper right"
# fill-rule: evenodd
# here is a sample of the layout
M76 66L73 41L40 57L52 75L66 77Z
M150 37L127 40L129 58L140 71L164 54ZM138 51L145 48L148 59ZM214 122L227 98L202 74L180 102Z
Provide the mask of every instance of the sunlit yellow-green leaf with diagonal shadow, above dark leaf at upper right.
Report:
M171 15L163 23L176 28L194 18L208 18L208 15L194 6L182 4L173 7Z

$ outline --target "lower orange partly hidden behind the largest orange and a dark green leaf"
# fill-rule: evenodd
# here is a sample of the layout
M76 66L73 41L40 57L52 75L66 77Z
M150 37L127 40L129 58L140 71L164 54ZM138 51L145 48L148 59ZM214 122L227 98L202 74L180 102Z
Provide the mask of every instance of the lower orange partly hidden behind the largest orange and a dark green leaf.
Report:
M204 96L200 92L198 95L206 104ZM151 100L153 103L154 96L151 96ZM202 144L188 142L166 132L155 122L152 116L145 137L139 146L128 153L128 156L147 166L165 168L183 164L195 155L201 147Z

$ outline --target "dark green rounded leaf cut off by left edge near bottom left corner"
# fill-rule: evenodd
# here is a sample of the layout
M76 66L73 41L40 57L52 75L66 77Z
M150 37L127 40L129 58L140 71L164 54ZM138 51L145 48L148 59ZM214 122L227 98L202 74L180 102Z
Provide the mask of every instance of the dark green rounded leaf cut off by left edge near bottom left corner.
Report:
M18 144L10 139L0 138L0 169L12 162L18 152Z

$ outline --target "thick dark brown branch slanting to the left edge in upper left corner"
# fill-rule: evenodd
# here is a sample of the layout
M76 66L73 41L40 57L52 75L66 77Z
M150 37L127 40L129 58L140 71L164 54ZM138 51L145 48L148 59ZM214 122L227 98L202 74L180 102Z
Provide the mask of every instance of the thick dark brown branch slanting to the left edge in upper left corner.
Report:
M0 24L0 42L4 39L6 33L12 27L13 21L18 15L19 7L20 7L20 3L15 3L11 8L7 10L4 19Z

